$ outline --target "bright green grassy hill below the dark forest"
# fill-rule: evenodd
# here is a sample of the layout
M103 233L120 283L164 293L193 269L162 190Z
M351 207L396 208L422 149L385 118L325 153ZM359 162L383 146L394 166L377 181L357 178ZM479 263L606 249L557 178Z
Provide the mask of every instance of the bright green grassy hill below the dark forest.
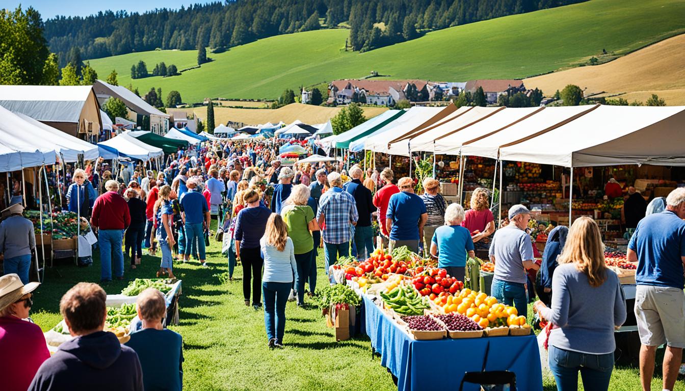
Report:
M366 53L345 52L348 30L308 31L266 38L225 53L214 62L175 77L131 80L130 68L144 60L191 66L196 51L149 51L90 60L104 78L112 69L119 84L132 83L141 94L151 86L181 92L186 102L205 97L278 97L333 79L377 71L393 79L466 81L521 78L573 66L606 49L624 55L685 32L682 0L593 0L529 14L506 16L434 31L416 40Z

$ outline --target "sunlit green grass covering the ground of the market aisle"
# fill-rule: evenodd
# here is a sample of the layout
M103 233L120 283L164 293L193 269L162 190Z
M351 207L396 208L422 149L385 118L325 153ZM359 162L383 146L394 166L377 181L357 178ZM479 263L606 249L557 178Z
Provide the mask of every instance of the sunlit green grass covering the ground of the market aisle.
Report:
M336 342L319 310L303 310L288 303L286 349L269 351L263 312L243 304L240 268L236 268L234 281L222 282L219 275L227 272L227 263L219 244L210 241L211 268L201 268L194 261L177 263L174 268L183 280L183 294L179 300L181 323L170 328L184 338L184 390L396 389L379 360L371 360L369 338ZM106 283L103 288L110 294L119 293L129 279L154 277L158 265L159 257L144 255L140 267L125 270L125 281ZM318 272L318 283L323 286L323 249ZM44 331L50 329L61 319L62 294L79 281L97 282L99 277L97 256L89 268L60 263L48 269L45 284L36 291L32 318ZM545 390L556 390L553 379L545 379L544 384ZM660 387L660 379L655 379L652 388ZM614 369L610 390L638 389L636 368ZM682 383L676 389L682 390Z

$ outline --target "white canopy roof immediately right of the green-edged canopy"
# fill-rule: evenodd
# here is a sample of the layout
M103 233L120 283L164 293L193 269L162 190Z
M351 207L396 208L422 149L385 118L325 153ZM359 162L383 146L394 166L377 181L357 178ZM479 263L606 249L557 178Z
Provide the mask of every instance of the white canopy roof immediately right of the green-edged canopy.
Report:
M416 127L421 126L421 124L428 121L443 109L444 108L410 108L403 116L400 116L395 121L374 131L369 138L366 138L366 140L364 140L364 149L389 153L390 155L398 155L399 153L395 153L395 151L390 151L390 149L388 149L388 141L413 131ZM354 142L350 144L350 151L355 151L353 145L355 145Z

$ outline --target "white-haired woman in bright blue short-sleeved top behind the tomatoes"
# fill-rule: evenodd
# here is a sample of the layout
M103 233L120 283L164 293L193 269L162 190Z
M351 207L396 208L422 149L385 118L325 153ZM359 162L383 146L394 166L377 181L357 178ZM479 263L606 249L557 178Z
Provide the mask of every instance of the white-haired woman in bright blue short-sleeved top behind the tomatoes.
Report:
M430 254L438 258L438 267L464 281L466 257L473 257L473 240L469 230L462 227L464 208L459 203L451 203L445 210L445 225L435 230L430 245Z

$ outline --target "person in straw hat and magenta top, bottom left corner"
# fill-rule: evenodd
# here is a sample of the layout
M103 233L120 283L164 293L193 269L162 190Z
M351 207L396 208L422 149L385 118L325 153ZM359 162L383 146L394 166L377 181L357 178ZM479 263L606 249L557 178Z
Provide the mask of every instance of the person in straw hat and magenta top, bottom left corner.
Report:
M45 337L38 325L23 320L29 317L32 293L40 285L24 284L12 273L0 277L0 368L2 389L25 391L40 364L50 357Z

